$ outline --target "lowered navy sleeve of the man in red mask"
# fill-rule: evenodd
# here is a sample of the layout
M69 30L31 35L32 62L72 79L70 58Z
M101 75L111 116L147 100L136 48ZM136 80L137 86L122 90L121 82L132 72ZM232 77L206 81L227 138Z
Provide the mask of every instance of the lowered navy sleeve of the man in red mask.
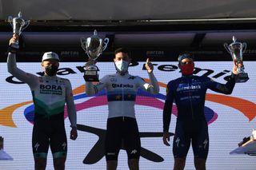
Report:
M169 82L166 87L166 101L165 101L165 105L162 113L163 132L169 131L173 102L174 102L174 91L172 90L171 83Z

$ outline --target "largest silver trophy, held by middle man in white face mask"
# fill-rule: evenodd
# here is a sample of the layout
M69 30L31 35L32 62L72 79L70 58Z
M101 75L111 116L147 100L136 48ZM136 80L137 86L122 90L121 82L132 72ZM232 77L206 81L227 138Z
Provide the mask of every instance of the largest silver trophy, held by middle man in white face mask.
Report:
M90 38L81 38L82 49L84 49L90 57L90 59L96 62L96 59L102 54L103 49L103 40L98 37L97 30L94 30L94 35ZM98 81L98 67L94 64L91 64L86 67L84 79L86 81Z

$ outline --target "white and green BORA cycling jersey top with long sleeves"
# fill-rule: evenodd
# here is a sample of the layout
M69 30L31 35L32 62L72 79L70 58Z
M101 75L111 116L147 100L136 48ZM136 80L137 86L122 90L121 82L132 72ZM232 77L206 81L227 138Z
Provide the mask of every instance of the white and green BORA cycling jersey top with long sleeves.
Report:
M30 86L34 101L34 113L50 117L64 112L67 105L68 116L72 127L76 127L77 117L70 81L61 77L38 77L18 69L14 53L7 57L8 71L18 80Z

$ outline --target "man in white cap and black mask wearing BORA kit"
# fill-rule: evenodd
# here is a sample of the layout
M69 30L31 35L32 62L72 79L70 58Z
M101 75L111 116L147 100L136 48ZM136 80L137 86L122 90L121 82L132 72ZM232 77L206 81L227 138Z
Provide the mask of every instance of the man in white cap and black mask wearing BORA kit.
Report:
M64 169L67 152L66 130L64 126L64 106L66 103L70 119L70 139L76 140L77 117L73 100L73 93L68 79L56 76L59 58L54 52L44 53L42 77L26 73L16 65L17 48L14 43L18 35L10 39L7 66L8 71L18 80L30 86L34 101L34 127L32 135L32 148L34 153L34 168L46 169L47 152L50 145L54 158L54 169Z

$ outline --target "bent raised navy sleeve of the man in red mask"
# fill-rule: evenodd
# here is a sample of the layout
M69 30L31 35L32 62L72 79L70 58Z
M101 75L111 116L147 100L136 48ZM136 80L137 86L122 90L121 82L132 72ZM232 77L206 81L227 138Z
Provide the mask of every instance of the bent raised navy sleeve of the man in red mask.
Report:
M235 75L232 73L226 84L218 83L212 80L210 77L206 77L206 85L208 89L211 89L214 92L230 94L234 89Z

